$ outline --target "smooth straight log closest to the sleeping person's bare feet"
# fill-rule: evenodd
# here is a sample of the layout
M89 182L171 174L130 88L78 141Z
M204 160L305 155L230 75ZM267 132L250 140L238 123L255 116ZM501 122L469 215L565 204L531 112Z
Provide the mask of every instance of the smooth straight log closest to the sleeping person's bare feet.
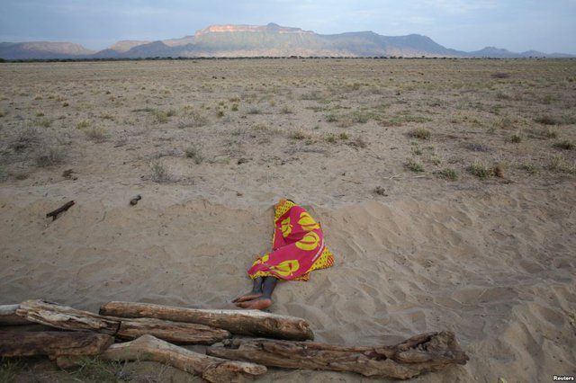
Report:
M304 319L279 316L260 310L207 310L171 307L149 303L109 302L100 314L121 317L153 317L175 322L196 323L223 328L232 334L306 341L314 339L311 327Z

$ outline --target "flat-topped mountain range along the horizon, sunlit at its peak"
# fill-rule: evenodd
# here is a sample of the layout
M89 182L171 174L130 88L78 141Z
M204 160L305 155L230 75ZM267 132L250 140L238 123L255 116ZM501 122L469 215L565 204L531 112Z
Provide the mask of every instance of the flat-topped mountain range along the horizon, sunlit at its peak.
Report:
M382 36L373 31L318 34L275 23L211 25L193 36L171 40L121 40L94 51L70 42L2 42L0 58L231 58L231 57L403 57L403 58L570 58L530 50L487 47L473 52L447 49L427 36Z

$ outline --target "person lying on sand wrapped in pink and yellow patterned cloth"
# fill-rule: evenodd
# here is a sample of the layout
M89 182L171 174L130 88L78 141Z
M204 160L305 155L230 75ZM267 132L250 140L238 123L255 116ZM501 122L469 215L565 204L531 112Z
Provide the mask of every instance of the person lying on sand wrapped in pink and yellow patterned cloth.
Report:
M312 271L334 264L320 224L302 206L293 200L280 200L275 204L274 223L272 252L258 257L248 269L254 286L252 291L232 300L238 307L270 307L278 280L308 281Z

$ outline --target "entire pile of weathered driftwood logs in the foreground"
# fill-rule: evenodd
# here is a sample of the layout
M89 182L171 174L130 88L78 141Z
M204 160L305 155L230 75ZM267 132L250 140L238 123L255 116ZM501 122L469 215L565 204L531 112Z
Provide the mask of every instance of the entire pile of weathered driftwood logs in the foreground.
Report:
M258 310L110 302L97 315L42 300L0 306L0 326L30 322L60 330L0 331L0 356L47 355L62 368L86 356L158 361L211 382L257 377L266 366L410 379L468 361L451 332L420 334L392 346L352 347L311 342L305 320ZM175 344L211 346L202 354Z

